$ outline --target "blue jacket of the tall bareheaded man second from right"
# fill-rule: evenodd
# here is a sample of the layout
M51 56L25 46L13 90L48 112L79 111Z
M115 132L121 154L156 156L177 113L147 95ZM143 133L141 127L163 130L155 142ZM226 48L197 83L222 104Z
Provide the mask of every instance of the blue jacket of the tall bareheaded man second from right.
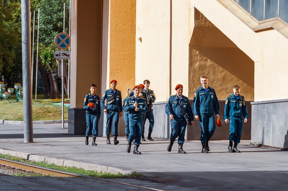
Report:
M213 88L208 86L208 92L201 86L194 94L193 102L194 115L199 114L219 114L219 103L216 92Z

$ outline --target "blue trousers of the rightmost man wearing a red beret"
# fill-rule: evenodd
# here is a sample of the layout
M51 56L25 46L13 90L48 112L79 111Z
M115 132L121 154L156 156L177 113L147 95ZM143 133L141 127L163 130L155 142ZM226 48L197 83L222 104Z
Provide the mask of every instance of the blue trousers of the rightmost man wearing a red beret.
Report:
M171 125L171 135L170 140L175 141L175 139L178 137L178 144L184 143L184 137L185 137L185 131L186 131L186 121L183 117L182 118L174 118L175 120L170 120Z

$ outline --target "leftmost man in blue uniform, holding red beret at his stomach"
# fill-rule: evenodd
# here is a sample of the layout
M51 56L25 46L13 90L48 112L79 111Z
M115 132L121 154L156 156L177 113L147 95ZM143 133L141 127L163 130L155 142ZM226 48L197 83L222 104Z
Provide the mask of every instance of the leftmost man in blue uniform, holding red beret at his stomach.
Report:
M86 95L84 98L83 108L86 109L86 139L85 144L88 145L88 138L92 132L92 145L97 145L95 143L96 136L98 134L98 122L100 121L101 107L100 107L100 97L96 95L95 84L90 85L90 94ZM88 103L93 103L94 108L88 105Z

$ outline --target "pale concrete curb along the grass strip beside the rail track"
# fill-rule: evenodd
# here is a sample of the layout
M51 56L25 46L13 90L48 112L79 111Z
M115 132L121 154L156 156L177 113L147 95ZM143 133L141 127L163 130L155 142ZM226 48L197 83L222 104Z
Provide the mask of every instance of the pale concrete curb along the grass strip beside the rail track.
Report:
M29 153L24 153L24 152L19 152L19 151L11 151L11 150L6 150L6 149L0 149L0 153L3 155L12 155L15 157L22 157L29 161L36 161L36 162L43 161L43 162L47 162L48 164L54 163L59 166L83 168L85 170L94 170L99 173L100 172L113 173L113 174L122 173L123 175L125 175L125 174L131 174L132 172L134 172L132 170L122 170L122 169L118 169L115 167L107 167L103 165L82 163L82 162L70 161L70 160L65 160L65 159L56 159L52 157L45 157L45 156L34 155L34 154L29 154Z

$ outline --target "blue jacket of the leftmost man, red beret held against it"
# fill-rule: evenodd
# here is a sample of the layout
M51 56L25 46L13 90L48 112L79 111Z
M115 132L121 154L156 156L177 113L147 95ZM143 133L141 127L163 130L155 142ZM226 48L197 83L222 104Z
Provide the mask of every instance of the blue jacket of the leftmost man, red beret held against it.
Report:
M94 109L92 109L92 107L88 108L87 106L88 103L93 103L95 105ZM86 95L84 98L83 108L86 109L86 113L92 115L98 115L98 117L100 117L101 115L100 97L95 94L95 97L93 99L91 93Z

